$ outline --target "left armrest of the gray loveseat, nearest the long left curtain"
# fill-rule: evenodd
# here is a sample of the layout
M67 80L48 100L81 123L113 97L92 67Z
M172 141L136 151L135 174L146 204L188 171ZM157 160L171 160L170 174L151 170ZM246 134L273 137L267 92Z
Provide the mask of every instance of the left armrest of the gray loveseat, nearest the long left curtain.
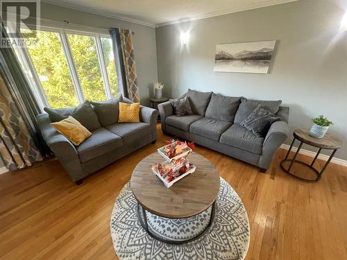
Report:
M40 125L44 141L54 155L56 155L60 164L62 164L67 174L71 177L71 180L76 182L76 180L85 177L75 146L51 126L49 115L39 114L37 115L37 121Z

